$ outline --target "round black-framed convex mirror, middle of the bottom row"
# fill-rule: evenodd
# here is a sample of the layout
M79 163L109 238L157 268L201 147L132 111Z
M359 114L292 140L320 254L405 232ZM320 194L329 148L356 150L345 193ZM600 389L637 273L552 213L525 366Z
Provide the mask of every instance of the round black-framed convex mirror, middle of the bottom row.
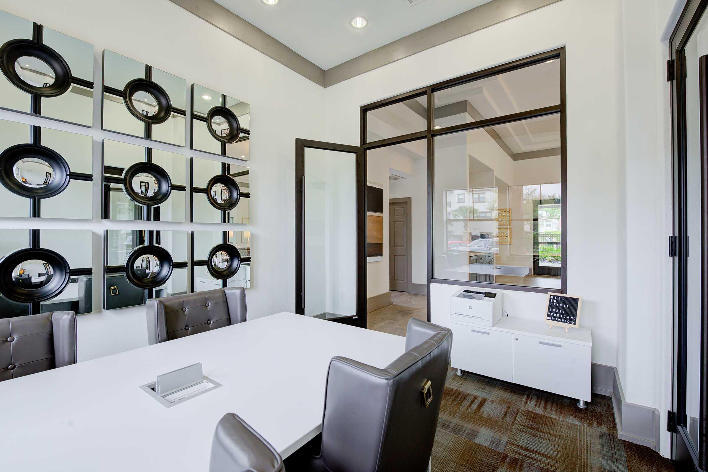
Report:
M162 246L137 246L125 258L125 277L140 289L154 289L172 275L172 256Z

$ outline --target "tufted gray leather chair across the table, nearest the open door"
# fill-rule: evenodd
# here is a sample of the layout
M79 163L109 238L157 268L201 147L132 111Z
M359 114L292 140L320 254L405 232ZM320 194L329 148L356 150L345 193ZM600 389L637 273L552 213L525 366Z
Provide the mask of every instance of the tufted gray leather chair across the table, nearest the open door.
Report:
M246 321L246 290L228 287L149 299L146 308L148 343L164 343Z

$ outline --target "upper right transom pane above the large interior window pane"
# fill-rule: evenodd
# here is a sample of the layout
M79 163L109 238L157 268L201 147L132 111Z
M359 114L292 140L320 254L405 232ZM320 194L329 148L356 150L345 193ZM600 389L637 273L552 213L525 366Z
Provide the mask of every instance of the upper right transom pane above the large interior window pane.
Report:
M460 125L561 103L561 61L551 59L433 94L435 127Z

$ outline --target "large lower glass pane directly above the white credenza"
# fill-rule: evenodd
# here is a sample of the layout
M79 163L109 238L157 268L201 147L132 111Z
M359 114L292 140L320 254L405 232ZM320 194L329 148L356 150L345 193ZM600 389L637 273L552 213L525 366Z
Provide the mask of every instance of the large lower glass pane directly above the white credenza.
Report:
M435 138L434 277L559 289L560 116Z

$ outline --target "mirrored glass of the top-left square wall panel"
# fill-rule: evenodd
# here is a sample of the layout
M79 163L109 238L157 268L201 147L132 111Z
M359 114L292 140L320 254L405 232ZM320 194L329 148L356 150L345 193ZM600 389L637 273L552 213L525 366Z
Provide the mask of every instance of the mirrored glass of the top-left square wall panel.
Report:
M41 38L40 44L52 48L67 62L71 70L69 90L62 95L40 97L33 102L30 93L13 85L4 74L0 74L0 107L91 126L93 45L39 24L36 28L36 37ZM18 39L33 39L33 23L0 11L0 45ZM9 73L28 86L45 88L55 85L57 79L62 80L61 76L57 76L61 71L52 69L47 62L30 53L18 57L7 66Z

